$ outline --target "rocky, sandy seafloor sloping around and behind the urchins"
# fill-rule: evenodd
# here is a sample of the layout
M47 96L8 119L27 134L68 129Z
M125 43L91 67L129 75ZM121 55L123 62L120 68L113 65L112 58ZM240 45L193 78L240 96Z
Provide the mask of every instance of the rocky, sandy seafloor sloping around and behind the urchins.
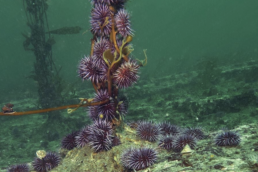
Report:
M202 125L207 138L198 141L193 153L182 156L157 147L157 143L139 140L135 131L120 131L122 144L109 151L94 153L91 148L67 151L56 172L131 171L120 163L120 154L132 145L156 148L159 159L142 171L258 171L258 62L202 68L160 78L141 74L135 87L122 91L130 98L126 120L170 121L182 127ZM213 74L213 75L211 75ZM92 96L93 89L76 95ZM37 109L36 99L13 100L15 110ZM3 102L4 105L7 102ZM1 117L0 166L31 162L37 150L60 151L60 139L78 130L90 120L82 108L73 114L61 111L62 120L46 124L47 115ZM222 128L238 130L241 144L216 146L213 139ZM64 152L64 150L62 150Z

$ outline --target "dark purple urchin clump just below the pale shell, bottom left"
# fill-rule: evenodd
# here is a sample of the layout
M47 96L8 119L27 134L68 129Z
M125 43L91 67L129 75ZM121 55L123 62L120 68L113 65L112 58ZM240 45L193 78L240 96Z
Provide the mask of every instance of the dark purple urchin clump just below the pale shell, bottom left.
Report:
M47 172L58 166L61 158L57 153L49 152L42 159L35 158L32 161L32 166L37 172Z

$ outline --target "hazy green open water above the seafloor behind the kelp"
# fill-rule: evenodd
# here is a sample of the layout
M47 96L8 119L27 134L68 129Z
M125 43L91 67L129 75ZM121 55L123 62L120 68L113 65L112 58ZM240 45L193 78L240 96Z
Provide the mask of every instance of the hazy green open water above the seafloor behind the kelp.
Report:
M87 0L48 1L50 30L64 26L89 29L91 5ZM217 56L222 63L241 62L258 55L258 1L231 0L173 0L128 1L132 28L136 31L132 54L144 58L148 49L148 65L142 73L149 76L171 75L195 68L203 56ZM0 88L12 91L36 91L37 84L25 77L34 70L33 52L23 48L29 34L22 1L0 0ZM83 31L81 31L82 33ZM54 35L53 58L62 66L61 77L78 82L76 65L90 50L91 33L84 35ZM87 83L83 84L84 86ZM1 103L10 98L1 97Z

